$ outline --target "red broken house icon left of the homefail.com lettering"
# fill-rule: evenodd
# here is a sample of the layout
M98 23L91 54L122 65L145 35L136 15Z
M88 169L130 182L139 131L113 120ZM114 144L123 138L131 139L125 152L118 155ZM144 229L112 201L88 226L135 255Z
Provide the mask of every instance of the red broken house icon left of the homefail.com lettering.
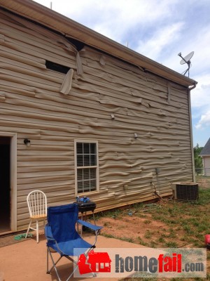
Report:
M80 274L111 272L111 259L106 252L95 253L92 250L88 253L87 259L84 254L80 255L78 268Z

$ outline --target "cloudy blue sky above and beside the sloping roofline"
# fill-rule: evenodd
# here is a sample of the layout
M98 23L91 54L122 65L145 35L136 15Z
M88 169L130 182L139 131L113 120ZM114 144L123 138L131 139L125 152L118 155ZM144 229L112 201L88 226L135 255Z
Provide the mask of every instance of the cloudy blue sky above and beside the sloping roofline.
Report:
M36 0L134 51L183 73L191 58L193 145L210 138L210 0Z

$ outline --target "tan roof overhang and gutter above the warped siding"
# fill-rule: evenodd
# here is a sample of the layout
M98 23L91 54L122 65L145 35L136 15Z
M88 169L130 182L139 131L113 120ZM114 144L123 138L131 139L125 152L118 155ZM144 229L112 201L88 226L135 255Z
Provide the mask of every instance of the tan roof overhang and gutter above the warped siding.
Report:
M17 13L18 15L45 25L45 27L60 32L67 38L77 39L88 46L97 48L121 60L125 60L127 63L143 67L145 71L158 74L160 77L164 77L169 81L174 81L186 87L197 84L195 80L185 77L154 60L146 58L144 55L132 51L130 48L118 44L116 41L104 37L102 34L94 32L84 25L80 25L78 22L66 18L64 15L34 1L0 0L0 6L13 13ZM177 63L179 63L179 61Z

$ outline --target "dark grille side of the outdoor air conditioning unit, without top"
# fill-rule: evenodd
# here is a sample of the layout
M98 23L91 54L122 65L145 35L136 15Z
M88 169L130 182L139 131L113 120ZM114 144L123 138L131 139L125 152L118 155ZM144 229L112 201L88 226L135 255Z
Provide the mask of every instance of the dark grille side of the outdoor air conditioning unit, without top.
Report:
M195 185L176 184L177 200L195 201L198 200L198 197L199 197L198 184Z

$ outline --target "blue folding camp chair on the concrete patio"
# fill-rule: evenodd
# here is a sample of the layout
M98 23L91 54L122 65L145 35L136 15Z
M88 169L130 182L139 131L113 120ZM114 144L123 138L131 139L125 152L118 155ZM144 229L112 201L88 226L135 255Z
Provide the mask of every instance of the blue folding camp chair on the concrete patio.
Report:
M76 230L76 223L80 223L95 232L94 244L90 244L83 240ZM62 257L66 257L76 264L73 272L66 279L68 281L73 273L78 268L77 261L73 260L71 256L79 257L80 254L85 254L95 247L97 242L97 235L102 229L102 226L94 226L91 223L81 221L78 219L78 204L67 204L57 207L48 207L48 224L45 226L45 236L47 238L47 273L50 274L52 269L55 269L58 280L61 281L56 265ZM52 257L52 249L59 253L59 259L54 261ZM52 260L52 268L49 270L49 255Z

